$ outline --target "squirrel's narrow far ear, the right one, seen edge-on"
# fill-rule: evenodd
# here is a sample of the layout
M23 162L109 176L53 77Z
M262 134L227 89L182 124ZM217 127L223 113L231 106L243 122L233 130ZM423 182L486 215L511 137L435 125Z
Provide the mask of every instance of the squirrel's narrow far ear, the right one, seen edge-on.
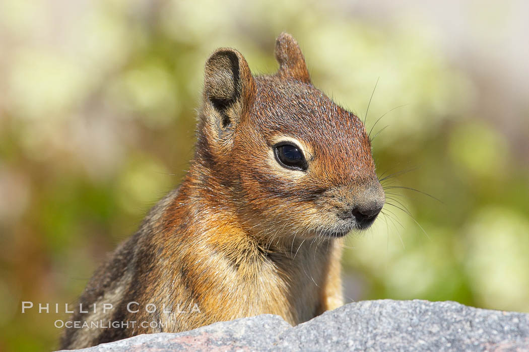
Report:
M277 37L276 60L279 62L279 77L311 82L303 53L294 37L288 33L283 32Z

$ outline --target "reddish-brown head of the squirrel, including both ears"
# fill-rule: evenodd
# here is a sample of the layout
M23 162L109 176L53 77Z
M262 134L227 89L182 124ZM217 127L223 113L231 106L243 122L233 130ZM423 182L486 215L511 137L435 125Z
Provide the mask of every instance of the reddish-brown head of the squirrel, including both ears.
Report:
M312 85L296 40L276 42L279 70L252 76L234 49L205 67L195 161L217 207L254 233L340 237L385 202L364 125Z

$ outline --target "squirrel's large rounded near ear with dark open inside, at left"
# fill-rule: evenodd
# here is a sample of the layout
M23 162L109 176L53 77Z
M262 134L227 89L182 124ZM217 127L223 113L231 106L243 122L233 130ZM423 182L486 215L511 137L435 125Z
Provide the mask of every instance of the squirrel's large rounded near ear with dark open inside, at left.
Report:
M204 98L214 109L212 118L222 135L233 131L253 101L256 86L248 63L239 51L217 49L206 62ZM214 116L212 116L214 115Z

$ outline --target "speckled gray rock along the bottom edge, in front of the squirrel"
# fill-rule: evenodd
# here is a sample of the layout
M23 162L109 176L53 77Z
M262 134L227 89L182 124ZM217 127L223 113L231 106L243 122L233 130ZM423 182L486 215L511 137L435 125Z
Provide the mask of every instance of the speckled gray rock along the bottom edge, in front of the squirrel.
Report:
M455 302L363 301L296 327L263 314L179 334L135 336L82 351L131 350L529 350L529 314Z

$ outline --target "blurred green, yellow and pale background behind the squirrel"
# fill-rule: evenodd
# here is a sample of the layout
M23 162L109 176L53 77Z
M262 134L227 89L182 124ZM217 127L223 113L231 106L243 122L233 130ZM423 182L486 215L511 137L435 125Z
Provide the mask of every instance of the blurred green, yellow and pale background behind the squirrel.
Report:
M348 300L529 312L529 3L431 3L0 1L0 350L57 347L66 315L21 301L75 302L183 176L208 55L275 72L282 31L357 115L378 81L379 175L440 200L388 188L349 238Z

